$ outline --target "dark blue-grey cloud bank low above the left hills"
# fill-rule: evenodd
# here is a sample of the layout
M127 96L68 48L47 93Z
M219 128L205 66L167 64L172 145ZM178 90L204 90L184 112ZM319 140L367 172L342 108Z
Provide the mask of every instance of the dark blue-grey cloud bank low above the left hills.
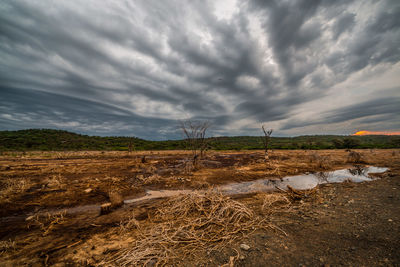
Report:
M157 127L172 132L177 128L174 120L138 116L96 101L19 88L1 90L0 122L10 125L10 130L24 128L26 124L42 128L45 123L81 133L105 135L118 131L122 135L135 133L157 139Z

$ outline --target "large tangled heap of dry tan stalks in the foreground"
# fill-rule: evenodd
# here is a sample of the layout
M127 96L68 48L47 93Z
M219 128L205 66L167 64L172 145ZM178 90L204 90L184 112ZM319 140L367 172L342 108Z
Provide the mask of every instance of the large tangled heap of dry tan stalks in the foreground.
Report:
M150 221L131 232L137 235L131 247L104 264L177 263L186 256L196 257L206 250L223 248L264 223L244 204L211 191L167 200L150 216Z

